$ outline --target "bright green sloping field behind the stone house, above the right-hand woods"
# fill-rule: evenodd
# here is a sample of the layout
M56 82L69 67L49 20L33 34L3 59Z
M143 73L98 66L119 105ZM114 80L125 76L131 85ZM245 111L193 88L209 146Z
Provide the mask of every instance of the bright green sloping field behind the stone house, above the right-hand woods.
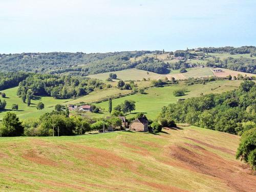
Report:
M135 94L131 96L121 97L118 99L113 99L113 108L124 100L134 100L136 101L136 110L134 113L143 112L148 118L155 119L164 105L174 103L177 101L178 98L180 98L173 95L174 90L181 88L187 89L189 92L186 92L186 95L181 98L189 98L200 96L201 93L221 93L234 90L238 88L240 83L241 81L214 81L209 82L205 85L194 84L193 86L176 85L163 88L150 88L145 91L146 94ZM215 90L212 91L211 89ZM99 114L98 116L109 116L109 113L106 112L108 110L108 101L98 103L96 104L96 106L99 106L101 109L104 110L103 113ZM95 114L92 115L95 116ZM129 116L133 116L133 114Z

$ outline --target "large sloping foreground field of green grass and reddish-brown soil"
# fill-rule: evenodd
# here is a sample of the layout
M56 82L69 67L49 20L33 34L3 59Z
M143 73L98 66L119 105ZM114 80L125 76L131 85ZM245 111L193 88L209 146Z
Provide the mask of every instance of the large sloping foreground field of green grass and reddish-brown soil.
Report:
M239 137L182 127L0 140L1 191L255 191Z

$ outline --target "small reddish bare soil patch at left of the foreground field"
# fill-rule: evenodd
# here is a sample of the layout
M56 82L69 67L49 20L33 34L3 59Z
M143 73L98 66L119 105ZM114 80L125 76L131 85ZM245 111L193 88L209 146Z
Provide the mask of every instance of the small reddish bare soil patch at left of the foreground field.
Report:
M35 150L29 150L27 153L23 155L23 158L32 161L36 164L49 165L49 166L57 166L58 164L50 159L45 158L42 155L39 155Z

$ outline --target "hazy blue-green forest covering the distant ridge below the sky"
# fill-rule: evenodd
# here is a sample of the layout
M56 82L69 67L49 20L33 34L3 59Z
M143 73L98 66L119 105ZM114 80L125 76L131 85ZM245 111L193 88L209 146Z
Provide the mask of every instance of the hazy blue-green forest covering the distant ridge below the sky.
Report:
M207 61L205 66L216 66L235 71L256 74L256 59L253 58L232 58L220 59L210 56L208 53L229 53L250 54L256 56L256 47L243 46L239 48L197 48L168 52L173 57L182 57L177 62L169 63L157 59L152 54L162 54L164 51L124 51L114 53L21 53L21 54L0 54L1 72L33 72L41 74L70 74L75 76L87 76L91 74L120 71L124 69L137 68L159 74L169 73L170 69L182 69L197 66L189 65L189 59ZM151 55L150 55L151 54ZM148 55L148 56L146 56ZM145 56L142 59L136 59ZM207 58L212 57L212 60ZM134 58L134 59L130 59ZM1 79L0 79L1 80Z

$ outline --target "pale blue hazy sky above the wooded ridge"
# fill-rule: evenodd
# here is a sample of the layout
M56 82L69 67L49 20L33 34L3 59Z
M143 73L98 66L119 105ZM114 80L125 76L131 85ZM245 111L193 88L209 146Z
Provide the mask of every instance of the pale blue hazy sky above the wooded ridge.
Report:
M255 0L0 0L0 53L245 45Z

